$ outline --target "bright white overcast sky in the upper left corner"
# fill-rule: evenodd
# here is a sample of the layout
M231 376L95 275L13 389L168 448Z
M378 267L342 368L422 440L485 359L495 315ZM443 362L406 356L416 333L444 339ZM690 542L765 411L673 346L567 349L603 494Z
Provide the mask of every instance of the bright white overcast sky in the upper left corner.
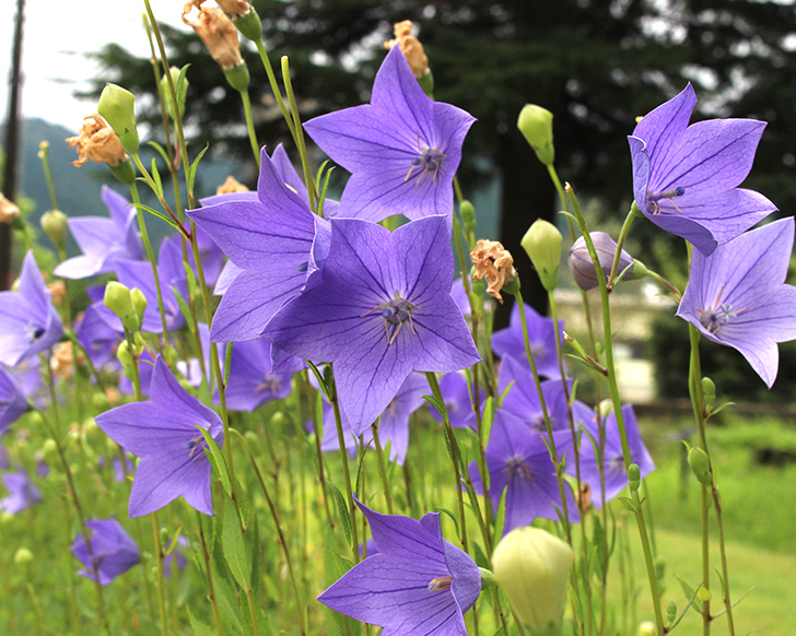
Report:
M150 0L159 21L173 26L182 0ZM116 42L138 56L149 55L143 30L143 0L25 0L22 43L22 115L40 117L77 131L83 117L96 111L93 101L79 101L75 90L89 87L97 66L85 54ZM0 0L0 120L8 117L9 80L16 0Z

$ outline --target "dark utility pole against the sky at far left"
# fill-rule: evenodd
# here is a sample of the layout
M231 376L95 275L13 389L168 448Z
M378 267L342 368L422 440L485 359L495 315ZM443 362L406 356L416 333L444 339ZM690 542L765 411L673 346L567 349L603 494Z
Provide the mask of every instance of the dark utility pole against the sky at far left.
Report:
M25 0L16 0L14 44L9 79L9 111L5 118L5 165L3 167L3 193L16 199L16 173L20 154L20 93L22 92L22 23L25 17ZM0 223L0 291L11 284L11 224Z

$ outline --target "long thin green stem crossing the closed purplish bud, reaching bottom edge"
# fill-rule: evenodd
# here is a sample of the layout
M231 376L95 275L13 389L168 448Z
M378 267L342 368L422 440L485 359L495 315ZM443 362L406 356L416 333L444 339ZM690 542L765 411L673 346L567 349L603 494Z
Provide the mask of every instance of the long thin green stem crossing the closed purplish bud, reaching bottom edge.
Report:
M622 415L622 402L619 396L619 386L617 384L616 365L613 362L613 341L611 332L611 309L608 295L608 288L606 284L606 278L600 266L597 250L595 249L592 237L588 233L586 220L581 211L581 204L575 197L575 192L572 187L566 184L566 196L570 199L572 209L575 212L577 219L578 229L581 229L583 237L588 248L588 254L592 257L592 261L595 264L595 273L597 275L597 282L599 283L600 299L602 304L602 329L605 334L605 353L606 353L606 368L608 369L608 386L611 392L611 401L613 402L613 411L617 416L617 427L619 428L619 436L622 444L622 456L624 457L625 470L630 469L632 463L630 455L630 445L628 443L628 432L624 426L624 416ZM653 560L652 547L649 545L649 537L646 531L646 522L644 521L644 515L641 509L641 500L639 498L637 491L631 488L633 503L635 505L635 520L639 526L639 533L641 534L642 549L644 552L644 562L646 564L647 578L649 580L649 591L653 597L653 609L655 611L655 625L657 628L657 636L664 636L664 614L660 608L660 590L658 587L658 578L655 572L655 563Z

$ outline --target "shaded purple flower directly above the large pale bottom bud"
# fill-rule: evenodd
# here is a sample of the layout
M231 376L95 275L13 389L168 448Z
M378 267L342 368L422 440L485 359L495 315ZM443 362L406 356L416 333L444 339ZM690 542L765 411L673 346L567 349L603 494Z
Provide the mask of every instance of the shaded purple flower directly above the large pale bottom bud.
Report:
M553 441L561 459L571 455L572 435L569 431L553 432ZM561 491L555 467L542 434L531 431L518 417L497 409L485 449L489 469L489 498L497 510L503 490L506 490L506 517L503 533L528 526L534 519L558 520L557 508L562 510ZM569 462L567 462L569 463ZM477 493L483 493L478 467L470 464L470 478ZM572 491L564 487L571 521L580 514Z

